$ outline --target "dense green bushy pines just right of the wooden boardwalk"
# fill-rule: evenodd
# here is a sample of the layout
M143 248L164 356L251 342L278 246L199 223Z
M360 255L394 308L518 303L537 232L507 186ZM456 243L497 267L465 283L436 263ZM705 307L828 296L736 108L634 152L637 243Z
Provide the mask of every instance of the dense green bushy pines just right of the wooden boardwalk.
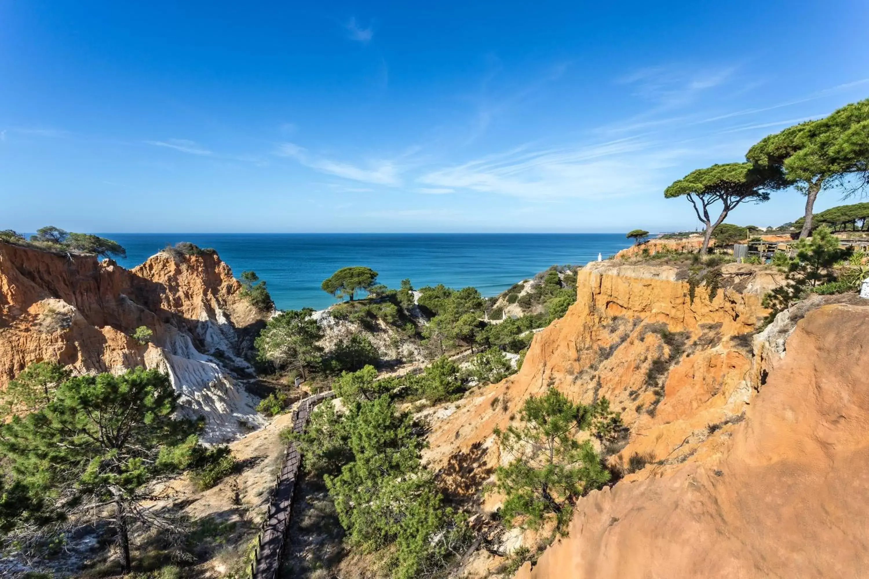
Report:
M425 440L413 419L389 393L374 398L371 371L361 372L357 384L342 377L347 411L320 405L308 431L284 436L299 444L306 470L323 477L348 545L381 554L393 577L433 575L467 549L466 517L446 506L421 465Z

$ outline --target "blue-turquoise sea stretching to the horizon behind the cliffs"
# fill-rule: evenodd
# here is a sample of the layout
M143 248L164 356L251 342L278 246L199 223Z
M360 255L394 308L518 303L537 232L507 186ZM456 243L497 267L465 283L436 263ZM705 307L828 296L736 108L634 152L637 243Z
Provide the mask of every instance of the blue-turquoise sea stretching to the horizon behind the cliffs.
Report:
M102 234L137 266L167 244L214 247L237 277L252 269L279 309L321 309L335 299L322 280L344 266L368 266L381 283L474 286L485 296L554 264L585 264L628 247L625 234Z

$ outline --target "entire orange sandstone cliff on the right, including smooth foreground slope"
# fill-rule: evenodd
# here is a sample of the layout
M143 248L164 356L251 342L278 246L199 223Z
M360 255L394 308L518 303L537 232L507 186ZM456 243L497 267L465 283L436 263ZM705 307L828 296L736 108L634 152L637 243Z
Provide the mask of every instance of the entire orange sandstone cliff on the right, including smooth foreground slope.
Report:
M581 498L569 535L518 577L861 576L869 304L809 299L759 332L777 274L722 273L720 290L699 286L692 300L675 267L589 264L521 372L434 413L428 461L470 500L509 459L494 427L528 396L554 386L622 412L624 439L602 451L625 476ZM489 494L481 508L499 505ZM537 538L510 534L501 553ZM465 569L496 563L482 551Z

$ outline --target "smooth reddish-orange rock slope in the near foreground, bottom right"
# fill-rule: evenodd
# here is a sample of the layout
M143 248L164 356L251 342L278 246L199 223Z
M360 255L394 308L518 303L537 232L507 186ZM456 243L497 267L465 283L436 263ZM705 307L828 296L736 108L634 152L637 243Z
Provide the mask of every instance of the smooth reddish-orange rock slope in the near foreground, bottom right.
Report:
M782 315L744 421L583 498L569 536L517 577L864 576L869 306Z

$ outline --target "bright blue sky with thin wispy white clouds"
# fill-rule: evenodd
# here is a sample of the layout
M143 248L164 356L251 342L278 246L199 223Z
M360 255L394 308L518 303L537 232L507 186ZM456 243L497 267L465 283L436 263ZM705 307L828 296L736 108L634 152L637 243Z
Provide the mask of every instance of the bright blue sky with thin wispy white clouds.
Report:
M0 0L0 228L693 228L670 182L869 96L864 0L422 4Z

